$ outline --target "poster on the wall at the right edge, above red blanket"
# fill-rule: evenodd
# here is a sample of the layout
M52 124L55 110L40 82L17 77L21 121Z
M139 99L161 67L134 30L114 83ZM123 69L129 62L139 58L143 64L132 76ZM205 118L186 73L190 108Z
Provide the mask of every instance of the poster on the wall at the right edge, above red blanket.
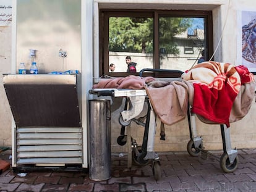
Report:
M256 74L256 11L242 11L242 64Z

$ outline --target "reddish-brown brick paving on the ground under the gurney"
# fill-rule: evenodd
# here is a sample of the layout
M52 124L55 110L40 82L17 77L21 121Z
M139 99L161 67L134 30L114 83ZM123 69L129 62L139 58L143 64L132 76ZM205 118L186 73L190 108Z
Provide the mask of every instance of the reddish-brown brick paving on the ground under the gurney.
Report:
M11 163L11 151L0 153L0 159ZM215 151L220 157L221 151ZM127 168L127 156L111 157L111 178L90 180L88 169L63 171L31 169L24 177L12 168L0 175L0 191L256 191L256 150L239 149L239 164L233 173L221 170L219 159L191 157L187 152L160 152L161 178L156 181L151 164ZM22 172L23 173L23 172Z

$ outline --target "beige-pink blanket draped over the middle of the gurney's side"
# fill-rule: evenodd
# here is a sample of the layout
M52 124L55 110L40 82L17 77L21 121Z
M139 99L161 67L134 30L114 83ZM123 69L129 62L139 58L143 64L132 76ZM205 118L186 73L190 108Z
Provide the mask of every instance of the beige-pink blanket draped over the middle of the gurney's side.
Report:
M194 93L193 85L186 81L151 81L145 89L156 115L166 125L184 119L188 100L194 98L188 94Z

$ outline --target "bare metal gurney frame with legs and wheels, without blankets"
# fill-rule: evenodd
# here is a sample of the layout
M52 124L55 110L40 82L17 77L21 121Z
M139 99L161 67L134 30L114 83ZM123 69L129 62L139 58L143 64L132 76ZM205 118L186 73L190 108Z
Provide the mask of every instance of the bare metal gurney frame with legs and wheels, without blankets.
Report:
M155 69L143 69L139 75L142 77L142 73L145 71L150 71L153 73L166 73L169 78L173 77L180 78L183 72L178 70L155 70ZM168 75L169 73L169 75ZM152 74L152 73L150 73ZM136 122L139 125L145 127L142 148L139 149L137 147L137 143L132 139L132 150L134 154L134 161L136 161L139 165L145 165L149 160L152 160L152 168L153 174L156 180L159 180L161 177L160 171L160 159L158 154L153 151L154 148L154 136L156 129L156 112L153 110L152 101L150 101L150 97L147 95L147 91L145 90L117 90L117 89L94 89L91 90L90 93L98 94L98 96L114 96L114 97L124 97L126 98L126 104L124 107L124 111L121 112L121 116L119 117L119 123L122 125L121 135L117 138L117 143L120 145L126 144L126 135L124 134L124 129L130 122ZM135 119L137 115L142 112L142 108L144 102L147 103L148 112L146 118L146 123L139 119ZM187 104L189 106L189 104ZM210 154L210 152L206 151L203 148L202 137L197 135L197 130L195 126L195 114L190 112L190 106L187 107L187 118L189 122L189 132L190 132L190 140L187 144L187 151L191 156L198 156L201 152L203 154ZM231 149L231 140L229 128L226 125L221 124L221 136L223 139L223 155L220 158L221 169L224 172L233 172L237 168L238 157L237 150Z

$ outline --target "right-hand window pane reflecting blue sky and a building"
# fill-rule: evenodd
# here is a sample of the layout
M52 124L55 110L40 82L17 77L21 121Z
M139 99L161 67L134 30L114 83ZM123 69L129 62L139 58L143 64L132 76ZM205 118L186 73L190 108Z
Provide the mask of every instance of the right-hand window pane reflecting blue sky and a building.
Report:
M205 19L159 18L160 69L187 70L202 61L205 49ZM204 52L204 51L203 51Z

